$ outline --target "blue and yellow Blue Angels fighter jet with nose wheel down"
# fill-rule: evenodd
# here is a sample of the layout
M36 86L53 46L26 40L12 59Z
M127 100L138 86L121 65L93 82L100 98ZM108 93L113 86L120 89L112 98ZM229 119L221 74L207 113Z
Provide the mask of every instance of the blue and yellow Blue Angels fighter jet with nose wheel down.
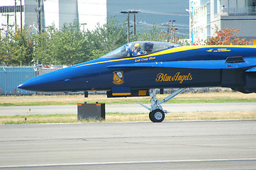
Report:
M111 97L150 96L149 117L162 122L161 104L189 87L221 86L256 92L256 46L182 46L167 42L130 42L96 60L30 79L29 91L107 91ZM157 89L179 89L162 101ZM85 95L87 96L87 95Z

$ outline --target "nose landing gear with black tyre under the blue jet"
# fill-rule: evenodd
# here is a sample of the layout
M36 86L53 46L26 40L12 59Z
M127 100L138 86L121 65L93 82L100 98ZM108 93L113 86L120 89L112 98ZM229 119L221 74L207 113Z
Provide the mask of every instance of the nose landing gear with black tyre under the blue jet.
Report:
M160 123L162 122L162 120L165 119L165 113L168 113L168 111L162 110L161 104L171 100L178 94L182 93L182 91L184 91L185 89L186 88L174 91L172 94L164 98L162 101L159 101L157 99L157 89L150 89L151 108L148 108L147 106L143 105L142 103L139 103L138 101L136 102L141 106L143 106L144 108L147 108L148 110L150 110L150 120L153 123Z

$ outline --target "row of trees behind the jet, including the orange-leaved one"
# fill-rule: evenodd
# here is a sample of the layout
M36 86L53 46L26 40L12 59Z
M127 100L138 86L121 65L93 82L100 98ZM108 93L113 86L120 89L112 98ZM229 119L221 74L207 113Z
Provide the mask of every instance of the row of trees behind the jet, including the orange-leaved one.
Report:
M231 29L225 31L234 33ZM221 38L227 38L226 32L218 30L216 38L208 38L206 45L218 45ZM228 36L232 37L232 33ZM49 26L40 34L34 33L33 28L24 27L22 31L9 31L0 35L0 66L33 66L38 62L44 65L70 66L106 55L127 43L126 23L119 23L114 18L109 19L103 26L98 24L94 30L80 31L79 23L74 22L65 24L60 30L54 25ZM228 40L238 39L235 37ZM162 31L157 26L152 26L150 30L137 31L135 36L130 33L130 42L138 40L189 45L177 35L173 37L172 33Z

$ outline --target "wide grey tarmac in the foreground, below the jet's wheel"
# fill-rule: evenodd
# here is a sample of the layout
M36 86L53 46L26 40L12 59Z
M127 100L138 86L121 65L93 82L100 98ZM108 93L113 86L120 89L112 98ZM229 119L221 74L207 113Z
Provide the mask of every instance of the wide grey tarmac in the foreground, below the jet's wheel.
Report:
M256 169L256 121L0 125L0 169Z

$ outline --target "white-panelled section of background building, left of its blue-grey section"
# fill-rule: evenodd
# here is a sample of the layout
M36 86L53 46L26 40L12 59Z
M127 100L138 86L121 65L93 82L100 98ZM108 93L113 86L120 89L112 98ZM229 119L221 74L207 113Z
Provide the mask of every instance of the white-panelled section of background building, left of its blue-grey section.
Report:
M97 23L106 23L106 0L40 0L39 9L43 28L55 24L59 29L64 23L77 21L81 30L93 30ZM21 23L37 28L38 2L16 0L15 13L15 0L0 1L0 29L15 30L15 23L17 28L21 28Z

